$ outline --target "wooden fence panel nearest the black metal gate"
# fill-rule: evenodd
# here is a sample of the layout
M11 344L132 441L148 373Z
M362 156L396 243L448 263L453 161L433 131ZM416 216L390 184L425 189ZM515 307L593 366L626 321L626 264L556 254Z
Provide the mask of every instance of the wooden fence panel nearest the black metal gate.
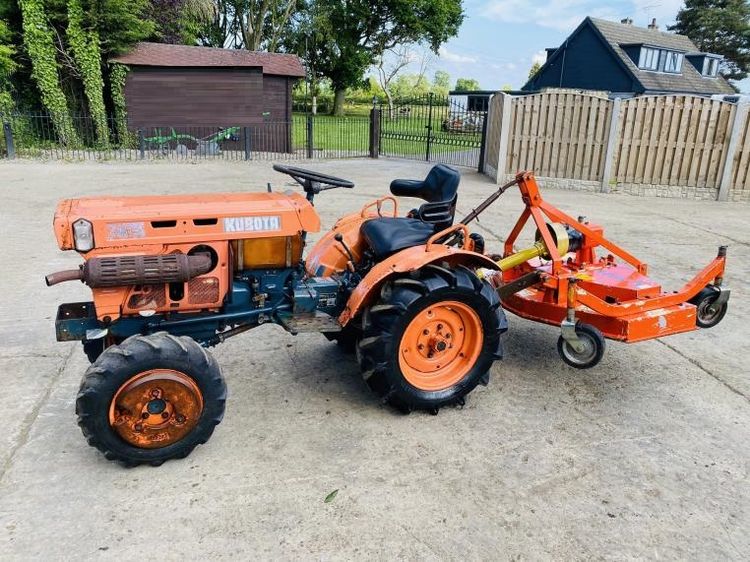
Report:
M612 102L600 96L549 92L512 100L506 173L601 179Z

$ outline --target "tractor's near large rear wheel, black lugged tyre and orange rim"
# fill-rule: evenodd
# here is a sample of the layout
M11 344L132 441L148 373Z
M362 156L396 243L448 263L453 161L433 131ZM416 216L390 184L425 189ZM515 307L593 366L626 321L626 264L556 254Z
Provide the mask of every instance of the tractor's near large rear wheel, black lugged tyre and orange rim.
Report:
M500 299L468 268L424 266L387 281L362 318L362 376L402 412L463 404L502 357Z

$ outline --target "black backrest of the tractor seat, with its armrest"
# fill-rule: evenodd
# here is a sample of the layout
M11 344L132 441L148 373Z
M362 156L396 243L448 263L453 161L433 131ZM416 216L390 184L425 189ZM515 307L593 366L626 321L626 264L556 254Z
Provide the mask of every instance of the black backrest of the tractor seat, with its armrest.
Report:
M437 164L424 180L393 180L391 193L426 201L416 209L413 217L434 224L437 232L453 224L460 181L461 174L458 170L445 164Z

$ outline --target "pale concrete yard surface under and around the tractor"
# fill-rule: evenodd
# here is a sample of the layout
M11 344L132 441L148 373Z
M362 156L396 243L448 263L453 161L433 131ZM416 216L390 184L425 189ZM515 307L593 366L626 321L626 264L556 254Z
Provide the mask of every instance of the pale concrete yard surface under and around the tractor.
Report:
M391 179L429 169L299 165L357 184L317 197L324 229ZM459 215L495 188L462 173ZM0 559L747 559L746 204L541 185L669 289L729 245L732 297L712 330L608 342L599 366L576 371L557 355L558 329L509 315L489 386L463 408L404 416L379 404L335 344L262 326L212 350L229 399L206 445L159 468L106 461L76 425L81 346L54 337L57 305L90 292L43 282L80 263L57 249L57 200L263 191L268 181L295 189L269 163L0 163ZM511 190L482 215L489 249L520 209Z

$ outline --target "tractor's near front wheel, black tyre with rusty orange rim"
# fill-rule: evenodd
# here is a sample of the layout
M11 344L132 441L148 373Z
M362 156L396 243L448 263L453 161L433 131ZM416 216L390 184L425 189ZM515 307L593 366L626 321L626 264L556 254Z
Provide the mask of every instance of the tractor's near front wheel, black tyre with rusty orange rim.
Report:
M126 466L186 457L224 416L227 388L195 340L166 332L132 336L88 368L76 399L89 445Z

